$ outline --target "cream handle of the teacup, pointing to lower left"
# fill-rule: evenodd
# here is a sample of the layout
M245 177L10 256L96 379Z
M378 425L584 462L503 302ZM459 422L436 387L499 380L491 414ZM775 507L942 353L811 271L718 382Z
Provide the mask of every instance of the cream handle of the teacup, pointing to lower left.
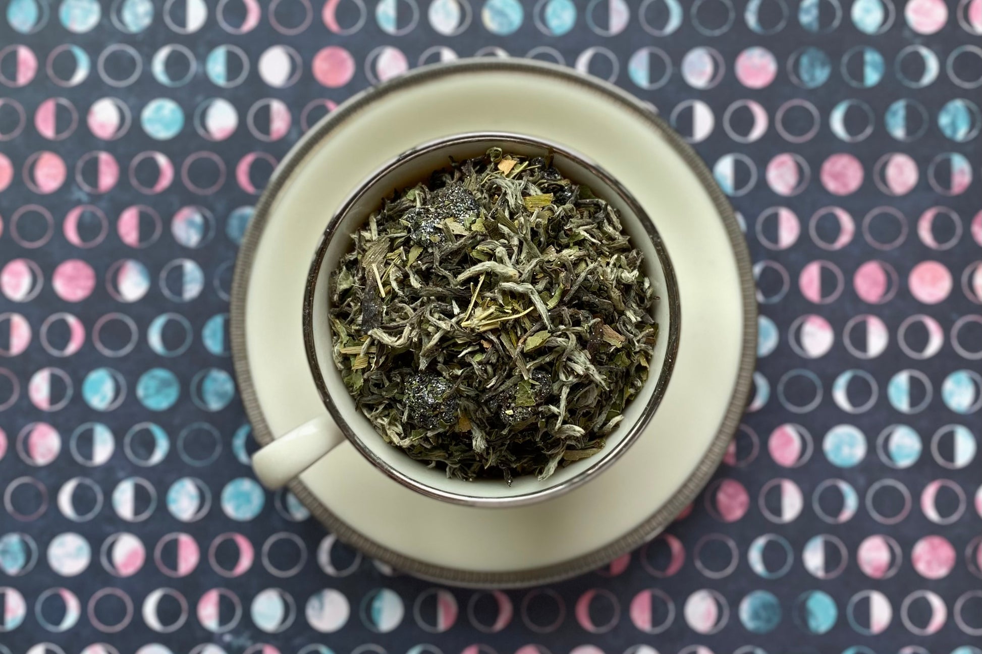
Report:
M331 416L318 415L252 455L252 469L263 486L276 490L344 442Z

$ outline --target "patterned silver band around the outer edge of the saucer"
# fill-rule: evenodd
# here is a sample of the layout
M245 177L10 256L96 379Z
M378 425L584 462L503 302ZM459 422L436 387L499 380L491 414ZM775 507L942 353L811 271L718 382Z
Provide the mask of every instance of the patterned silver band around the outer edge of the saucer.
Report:
M252 269L252 259L259 240L262 238L266 221L269 219L274 198L287 184L306 154L318 141L334 132L346 119L369 105L376 97L387 95L412 84L448 76L466 75L469 72L475 71L513 72L517 74L533 73L541 76L561 78L566 82L573 82L585 91L601 93L608 96L612 100L626 106L638 117L649 123L651 128L663 136L682 157L682 160L685 161L689 169L702 184L716 207L727 230L727 235L729 236L736 256L736 264L740 277L740 300L743 305L743 324L741 327L744 337L734 391L731 395L723 421L702 460L682 486L680 486L675 494L658 511L638 524L627 534L588 554L561 564L509 572L467 571L436 566L406 557L365 537L346 522L332 514L327 507L321 504L310 493L300 480L294 479L289 484L290 490L297 496L300 502L339 539L364 552L366 555L392 566L396 570L453 585L482 586L486 588L529 586L558 581L582 572L595 570L613 559L626 554L630 550L639 547L671 523L682 509L702 490L722 461L730 439L736 432L740 415L742 415L746 407L753 385L752 376L756 361L757 341L757 304L750 253L739 229L739 225L736 222L736 215L726 195L716 185L712 174L702 159L682 140L682 136L679 136L673 131L662 118L655 115L641 101L611 83L587 78L570 69L554 64L516 59L460 60L446 64L424 66L410 71L399 78L357 93L300 138L300 142L291 151L290 156L277 168L268 186L256 203L255 211L252 219L249 221L246 235L240 248L232 286L230 307L232 354L240 394L246 408L246 415L252 423L252 432L261 445L266 445L274 437L266 424L265 417L256 397L255 387L252 385L246 354L245 324L246 295Z

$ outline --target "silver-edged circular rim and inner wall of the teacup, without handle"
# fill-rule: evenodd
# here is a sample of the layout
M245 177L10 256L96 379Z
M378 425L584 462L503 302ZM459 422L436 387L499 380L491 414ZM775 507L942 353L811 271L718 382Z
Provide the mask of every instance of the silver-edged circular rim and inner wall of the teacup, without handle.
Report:
M577 472L573 477L561 483L544 487L541 490L505 497L465 495L462 493L446 491L440 488L434 488L433 486L425 484L418 479L409 476L402 470L393 467L378 457L371 450L371 448L367 447L363 443L355 429L352 428L349 422L345 419L341 409L339 409L337 404L335 404L334 398L332 397L330 390L327 388L327 383L324 380L323 374L321 373L321 365L314 343L313 328L314 311L326 311L328 308L327 306L316 305L314 300L314 291L317 286L317 281L320 278L320 271L324 262L325 253L328 245L331 243L331 240L338 234L338 227L344 223L346 218L349 217L349 213L353 210L353 207L357 205L358 200L371 191L375 191L375 188L379 184L379 180L383 179L387 174L408 165L418 157L433 153L448 146L460 146L468 143L473 143L476 145L478 143L488 142L493 142L496 145L506 147L509 145L517 145L525 148L534 148L541 155L548 153L560 154L565 159L568 159L574 164L588 170L592 175L599 178L603 184L607 186L607 188L614 191L614 193L617 194L618 199L620 199L621 202L630 208L631 213L633 213L637 218L641 227L644 229L647 238L650 240L651 245L654 247L655 253L658 257L658 263L660 264L664 274L665 283L665 288L656 289L656 293L659 294L659 301L667 303L669 311L669 324L668 329L666 330L667 333L664 336L664 338L668 339L668 343L665 357L661 366L661 372L659 373L657 379L648 379L646 382L645 385L654 385L651 397L646 401L645 406L637 420L627 428L627 433L624 435L624 437L617 443L608 446L608 448L605 448L604 451L595 455L595 457L597 457L597 461L591 462L591 464L584 466L582 471ZM474 152L474 154L476 155L477 152ZM447 163L450 163L449 160ZM392 190L386 191L391 192ZM388 194L388 192L384 194ZM365 215L361 220L356 221L356 224L363 224L367 218L368 216ZM627 448L629 448L630 445L644 432L644 428L647 427L648 423L651 421L651 417L655 414L655 410L658 409L658 405L665 396L665 390L668 387L669 379L672 376L672 369L675 366L676 355L679 352L681 318L682 312L679 300L679 285L676 279L675 269L672 266L672 260L669 258L668 251L665 249L665 245L662 243L661 237L658 235L658 230L655 228L651 218L644 211L644 209L641 208L641 205L637 202L637 200L635 200L627 189L625 189L617 180L603 170L603 168L586 159L583 155L574 153L569 148L549 140L507 133L473 133L438 138L403 152L372 173L341 204L341 207L335 212L334 216L327 224L327 227L324 229L324 233L321 236L316 251L314 252L313 261L310 264L310 271L307 274L306 286L303 291L303 349L306 352L307 362L309 363L310 370L313 374L314 384L317 387L317 392L320 394L321 401L324 403L324 406L330 412L331 417L334 419L342 433L344 433L345 437L370 463L378 467L399 483L408 486L416 492L422 493L423 495L437 500L444 500L471 507L518 507L521 505L531 504L533 502L541 502L549 498L562 495L563 493L567 493L573 490L573 488L576 488L577 486L592 479L598 473L607 469L612 463L620 459L621 456L627 451ZM330 361L328 365L330 369L336 370L336 368L334 368L333 361ZM378 436L378 438L382 438L380 434L376 433L373 435ZM415 463L425 465L425 463L421 462ZM474 483L494 483L494 481L481 480ZM504 483L504 481L502 481L502 483Z

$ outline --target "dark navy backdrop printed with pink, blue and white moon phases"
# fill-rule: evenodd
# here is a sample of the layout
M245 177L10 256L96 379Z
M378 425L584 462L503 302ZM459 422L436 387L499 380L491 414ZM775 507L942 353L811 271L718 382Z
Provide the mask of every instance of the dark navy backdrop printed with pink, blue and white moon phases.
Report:
M979 654L982 0L0 8L0 653ZM684 516L494 593L263 492L227 339L276 161L474 54L650 102L731 196L761 302L754 401Z

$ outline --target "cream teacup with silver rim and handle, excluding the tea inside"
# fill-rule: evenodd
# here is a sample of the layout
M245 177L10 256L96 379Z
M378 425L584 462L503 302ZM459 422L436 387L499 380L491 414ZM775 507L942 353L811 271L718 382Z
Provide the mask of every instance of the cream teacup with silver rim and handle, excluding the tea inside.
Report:
M628 405L625 419L607 438L602 452L557 468L544 481L534 475L464 481L448 478L436 467L410 459L383 440L355 407L341 373L334 365L328 278L341 256L352 245L351 234L394 190L427 179L445 167L450 157L463 160L480 156L490 147L526 156L553 155L554 165L573 181L586 184L607 199L621 215L632 244L644 253L645 273L660 300L654 317L660 337L650 363L648 380ZM644 431L665 394L679 347L680 305L675 272L658 232L630 194L584 157L563 146L530 136L468 134L450 136L420 145L390 161L352 193L328 223L314 253L303 298L303 342L314 382L327 413L278 437L252 457L259 480L267 488L279 488L341 445L351 441L370 463L414 491L447 502L482 507L518 506L539 502L567 492L614 463Z

